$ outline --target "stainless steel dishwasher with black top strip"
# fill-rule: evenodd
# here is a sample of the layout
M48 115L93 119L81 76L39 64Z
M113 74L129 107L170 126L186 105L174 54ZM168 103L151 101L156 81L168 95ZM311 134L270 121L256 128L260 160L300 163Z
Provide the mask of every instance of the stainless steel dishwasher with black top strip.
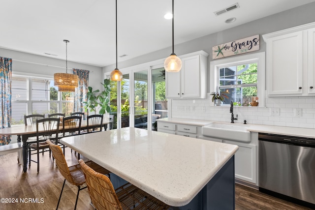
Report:
M315 209L315 139L259 133L259 191Z

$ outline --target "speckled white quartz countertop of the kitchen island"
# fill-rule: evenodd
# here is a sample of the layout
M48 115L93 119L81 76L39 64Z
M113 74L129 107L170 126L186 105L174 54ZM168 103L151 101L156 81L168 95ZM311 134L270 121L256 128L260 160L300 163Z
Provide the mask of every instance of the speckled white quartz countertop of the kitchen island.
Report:
M170 206L184 206L238 146L126 127L61 143Z

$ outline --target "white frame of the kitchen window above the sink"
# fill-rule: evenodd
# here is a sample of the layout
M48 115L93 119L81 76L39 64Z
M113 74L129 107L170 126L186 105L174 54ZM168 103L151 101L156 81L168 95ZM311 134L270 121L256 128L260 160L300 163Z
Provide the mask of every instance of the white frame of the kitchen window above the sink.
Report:
M243 56L235 56L226 59L210 61L210 92L219 90L220 73L219 69L229 66L243 65L245 63L257 63L257 96L259 97L259 106L265 107L265 53L253 53ZM210 103L215 106L214 103ZM229 106L229 105L223 105Z

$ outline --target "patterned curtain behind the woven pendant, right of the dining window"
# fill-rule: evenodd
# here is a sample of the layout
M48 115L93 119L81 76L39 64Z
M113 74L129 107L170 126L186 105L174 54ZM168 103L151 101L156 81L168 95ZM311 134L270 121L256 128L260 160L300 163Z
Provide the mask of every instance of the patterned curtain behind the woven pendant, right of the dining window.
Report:
M82 102L87 100L89 73L88 70L73 69L73 74L79 76L79 87L75 89L74 93L73 112L84 112Z

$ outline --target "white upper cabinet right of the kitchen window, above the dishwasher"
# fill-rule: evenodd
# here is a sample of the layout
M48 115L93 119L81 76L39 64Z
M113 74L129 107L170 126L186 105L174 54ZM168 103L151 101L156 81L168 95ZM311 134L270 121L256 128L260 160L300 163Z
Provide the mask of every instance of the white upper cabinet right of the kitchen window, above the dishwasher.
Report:
M315 93L315 23L263 35L268 96Z

